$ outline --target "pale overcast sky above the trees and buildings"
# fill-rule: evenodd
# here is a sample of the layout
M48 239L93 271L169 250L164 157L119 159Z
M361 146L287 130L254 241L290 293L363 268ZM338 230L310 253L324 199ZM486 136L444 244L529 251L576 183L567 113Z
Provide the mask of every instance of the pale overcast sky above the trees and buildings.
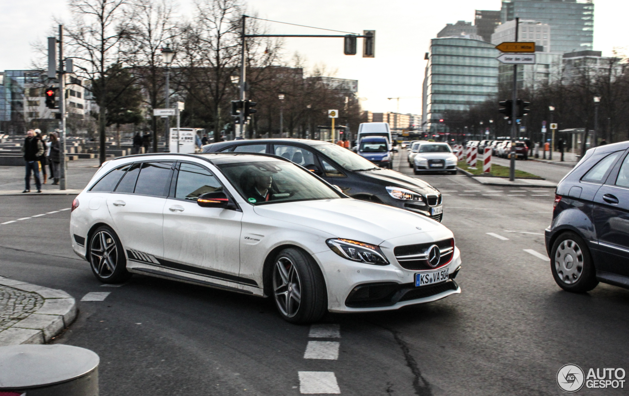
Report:
M191 18L192 0L179 0L180 13ZM365 110L421 114L421 86L430 39L446 23L473 21L475 9L499 9L500 0L249 0L248 12L260 18L361 33L376 30L376 57L343 55L342 38L288 38L286 60L298 52L306 66L325 65L333 77L359 80ZM624 34L629 1L594 0L594 50L610 56L628 52ZM67 18L65 0L0 2L0 70L28 69L35 58L31 43L45 43L52 18ZM335 34L269 23L276 34ZM339 33L340 34L340 33ZM389 97L403 99L388 100Z

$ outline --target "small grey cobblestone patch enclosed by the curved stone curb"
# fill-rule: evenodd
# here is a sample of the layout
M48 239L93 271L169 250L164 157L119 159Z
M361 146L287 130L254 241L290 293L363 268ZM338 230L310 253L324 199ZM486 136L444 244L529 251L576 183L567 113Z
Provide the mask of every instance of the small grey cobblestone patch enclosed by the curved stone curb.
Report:
M0 285L0 331L6 330L42 307L43 298Z

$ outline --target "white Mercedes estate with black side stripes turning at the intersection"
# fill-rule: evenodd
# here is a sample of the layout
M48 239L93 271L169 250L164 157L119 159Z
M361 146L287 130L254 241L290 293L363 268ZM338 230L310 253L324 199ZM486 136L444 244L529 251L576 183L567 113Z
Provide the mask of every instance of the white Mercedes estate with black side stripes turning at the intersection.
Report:
M70 237L101 282L140 273L270 296L289 322L460 293L452 231L269 155L108 161L74 200Z

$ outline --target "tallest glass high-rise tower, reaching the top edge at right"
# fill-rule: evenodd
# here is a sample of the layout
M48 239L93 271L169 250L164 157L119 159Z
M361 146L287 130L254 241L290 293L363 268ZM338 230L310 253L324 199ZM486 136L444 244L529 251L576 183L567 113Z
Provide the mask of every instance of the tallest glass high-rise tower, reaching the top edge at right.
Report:
M502 23L515 18L532 19L550 25L554 52L593 49L593 0L503 0Z

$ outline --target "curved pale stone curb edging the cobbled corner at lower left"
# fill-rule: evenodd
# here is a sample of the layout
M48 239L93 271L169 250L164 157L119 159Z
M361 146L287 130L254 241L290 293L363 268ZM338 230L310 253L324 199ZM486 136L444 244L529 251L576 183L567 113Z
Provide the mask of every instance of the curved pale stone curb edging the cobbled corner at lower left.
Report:
M76 301L63 290L48 289L8 278L0 278L0 285L36 293L43 299L40 309L0 331L0 346L47 343L65 327L70 326L77 316Z

